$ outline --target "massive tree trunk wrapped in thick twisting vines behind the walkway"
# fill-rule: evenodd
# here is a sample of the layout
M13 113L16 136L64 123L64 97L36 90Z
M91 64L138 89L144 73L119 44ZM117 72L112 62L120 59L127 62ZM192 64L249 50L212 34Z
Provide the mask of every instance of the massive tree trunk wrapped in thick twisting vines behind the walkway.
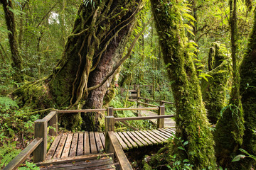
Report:
M46 86L46 96L50 96L55 108L102 107L113 77L110 72L122 58L134 18L143 4L139 0L102 0L80 5L61 60L50 77L38 81L38 86ZM21 96L23 92L17 93ZM100 114L81 113L85 123L82 129L97 130ZM63 114L60 120L65 128L80 128L81 115Z

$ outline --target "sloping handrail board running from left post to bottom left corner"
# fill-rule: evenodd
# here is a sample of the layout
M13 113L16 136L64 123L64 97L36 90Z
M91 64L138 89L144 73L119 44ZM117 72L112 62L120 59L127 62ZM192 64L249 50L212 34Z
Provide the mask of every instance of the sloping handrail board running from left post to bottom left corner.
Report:
M7 164L3 170L17 169L22 162L43 142L42 137L34 139L25 149L23 149L14 159Z

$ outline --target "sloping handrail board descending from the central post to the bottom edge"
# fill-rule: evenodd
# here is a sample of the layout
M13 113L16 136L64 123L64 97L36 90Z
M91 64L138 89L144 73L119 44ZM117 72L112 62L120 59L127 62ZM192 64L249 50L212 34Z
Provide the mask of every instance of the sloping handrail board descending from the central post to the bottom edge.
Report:
M114 135L114 132L108 132L107 135L109 135L109 137L110 137L110 141L114 148L114 153L117 157L120 168L122 170L132 170L132 166L131 166L131 164L129 164L129 160L127 159L126 155L124 154L124 151L123 151L121 145L119 145L119 142L117 140L116 135Z

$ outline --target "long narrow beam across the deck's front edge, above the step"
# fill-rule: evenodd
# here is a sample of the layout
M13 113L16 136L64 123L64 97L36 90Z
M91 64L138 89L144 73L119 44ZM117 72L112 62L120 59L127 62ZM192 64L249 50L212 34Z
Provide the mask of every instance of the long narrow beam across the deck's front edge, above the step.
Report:
M50 164L63 164L69 162L78 162L78 161L85 161L85 160L92 160L98 159L102 157L113 157L113 154L89 154L89 155L81 155L76 157L67 157L63 159L50 159L44 162L36 163L37 166L48 166Z

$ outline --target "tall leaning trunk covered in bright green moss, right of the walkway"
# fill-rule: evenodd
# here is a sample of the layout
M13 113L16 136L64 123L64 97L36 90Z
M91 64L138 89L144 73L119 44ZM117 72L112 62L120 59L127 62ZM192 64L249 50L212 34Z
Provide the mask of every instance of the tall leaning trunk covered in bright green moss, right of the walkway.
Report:
M185 146L177 142L178 157L189 159L194 169L215 168L214 142L210 123L203 106L201 88L192 58L186 50L181 12L182 1L151 0L156 30L168 65L171 89L176 103L176 137L188 141ZM168 12L166 12L168 11Z

